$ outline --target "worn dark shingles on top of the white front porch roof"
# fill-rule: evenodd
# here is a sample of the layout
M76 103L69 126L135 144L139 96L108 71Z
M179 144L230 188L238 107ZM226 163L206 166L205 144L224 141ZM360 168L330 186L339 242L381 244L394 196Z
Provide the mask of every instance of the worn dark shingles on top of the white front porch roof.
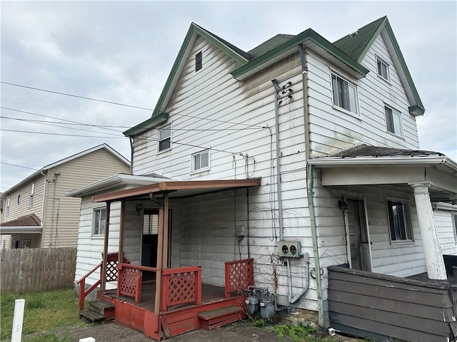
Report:
M443 156L440 152L424 150L406 150L401 148L377 147L358 145L331 155L331 157L354 158L354 157L426 157L428 155Z

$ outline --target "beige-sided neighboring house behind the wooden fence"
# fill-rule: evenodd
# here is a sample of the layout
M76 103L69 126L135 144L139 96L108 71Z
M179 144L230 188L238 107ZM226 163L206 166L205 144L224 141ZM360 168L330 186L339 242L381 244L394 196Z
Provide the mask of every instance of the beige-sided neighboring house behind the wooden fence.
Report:
M64 194L114 172L129 171L129 161L103 144L34 172L2 194L4 248L76 247L81 200Z

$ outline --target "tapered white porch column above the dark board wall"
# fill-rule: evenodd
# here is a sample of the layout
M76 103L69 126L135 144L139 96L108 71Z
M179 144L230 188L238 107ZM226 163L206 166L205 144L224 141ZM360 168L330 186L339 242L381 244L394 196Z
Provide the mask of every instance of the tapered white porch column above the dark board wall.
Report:
M414 199L421 229L423 252L426 257L426 267L429 279L447 279L446 268L444 267L443 254L436 232L435 218L430 202L428 188L433 185L431 182L409 183L414 189Z

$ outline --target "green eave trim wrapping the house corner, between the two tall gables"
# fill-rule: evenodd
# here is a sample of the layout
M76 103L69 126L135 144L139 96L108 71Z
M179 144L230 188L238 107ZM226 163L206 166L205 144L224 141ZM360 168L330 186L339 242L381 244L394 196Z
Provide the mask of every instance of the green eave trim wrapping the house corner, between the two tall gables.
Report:
M267 53L264 53L262 56L253 59L253 61L236 68L234 71L231 72L231 75L234 78L238 78L239 76L243 75L244 73L251 71L253 68L257 68L258 66L261 66L263 63L266 63L267 61L271 60L272 58L275 58L276 56L279 56L282 53L285 53L286 51L290 50L291 48L296 48L296 46L298 46L301 43L304 43L305 41L312 41L313 43L316 43L316 45L325 49L328 53L335 56L343 63L346 63L346 65L350 66L358 73L361 73L363 76L365 76L368 73L367 68L365 68L364 66L359 64L353 58L346 55L346 53L343 53L343 51L341 51L339 48L336 48L336 46L333 46L332 43L327 41L325 38L320 36L318 33L313 31L311 28L308 28L306 31L303 31L302 33L299 33L298 35L289 39L285 43L282 43L280 46L273 48L273 50L268 51Z

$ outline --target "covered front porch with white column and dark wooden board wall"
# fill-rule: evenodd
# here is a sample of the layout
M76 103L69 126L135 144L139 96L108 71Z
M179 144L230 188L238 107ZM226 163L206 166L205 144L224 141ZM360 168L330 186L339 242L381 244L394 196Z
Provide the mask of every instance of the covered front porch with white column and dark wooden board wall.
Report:
M456 163L438 152L361 145L310 165L316 191L338 206L336 234L346 243L328 266L329 325L375 341L454 341L457 269L445 260L457 254ZM441 207L447 216L437 224Z

